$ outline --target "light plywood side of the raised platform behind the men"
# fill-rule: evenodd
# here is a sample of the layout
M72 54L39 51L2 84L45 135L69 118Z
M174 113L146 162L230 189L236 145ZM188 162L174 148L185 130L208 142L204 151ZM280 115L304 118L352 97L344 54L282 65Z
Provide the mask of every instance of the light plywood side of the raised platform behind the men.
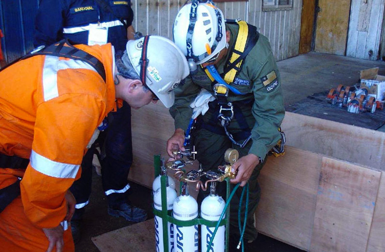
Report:
M133 111L129 179L151 187L174 122L163 105ZM385 133L287 112L283 157L259 178L258 231L310 252L385 251Z

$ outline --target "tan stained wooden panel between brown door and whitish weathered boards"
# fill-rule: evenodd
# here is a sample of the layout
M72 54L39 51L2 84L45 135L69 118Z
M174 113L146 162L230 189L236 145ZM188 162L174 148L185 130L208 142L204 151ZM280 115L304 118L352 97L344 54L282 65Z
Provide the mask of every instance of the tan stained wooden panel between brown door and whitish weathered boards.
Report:
M345 55L350 0L319 0L317 52Z

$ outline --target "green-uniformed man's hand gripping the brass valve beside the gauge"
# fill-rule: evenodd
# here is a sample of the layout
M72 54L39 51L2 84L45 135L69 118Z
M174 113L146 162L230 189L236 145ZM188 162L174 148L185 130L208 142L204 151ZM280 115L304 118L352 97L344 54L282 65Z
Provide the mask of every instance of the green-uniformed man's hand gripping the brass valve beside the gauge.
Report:
M237 176L234 179L231 179L230 182L233 184L241 183L241 187L244 187L246 183L249 181L251 173L254 168L259 164L259 158L254 154L248 154L246 156L241 157L235 162L231 171L237 171Z

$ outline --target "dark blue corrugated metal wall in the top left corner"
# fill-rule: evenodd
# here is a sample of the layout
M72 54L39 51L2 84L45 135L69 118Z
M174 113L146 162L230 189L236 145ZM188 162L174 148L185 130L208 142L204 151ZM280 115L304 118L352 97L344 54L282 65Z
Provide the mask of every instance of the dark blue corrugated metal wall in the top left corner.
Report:
M11 62L33 49L33 23L39 0L1 0L1 45L5 60Z

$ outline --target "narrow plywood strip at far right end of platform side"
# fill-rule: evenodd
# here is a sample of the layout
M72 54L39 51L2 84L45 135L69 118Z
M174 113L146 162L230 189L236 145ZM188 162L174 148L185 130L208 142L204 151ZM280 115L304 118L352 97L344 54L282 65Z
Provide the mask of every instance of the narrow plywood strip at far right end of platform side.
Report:
M372 227L366 252L385 251L385 172L381 174L380 188L374 208Z

